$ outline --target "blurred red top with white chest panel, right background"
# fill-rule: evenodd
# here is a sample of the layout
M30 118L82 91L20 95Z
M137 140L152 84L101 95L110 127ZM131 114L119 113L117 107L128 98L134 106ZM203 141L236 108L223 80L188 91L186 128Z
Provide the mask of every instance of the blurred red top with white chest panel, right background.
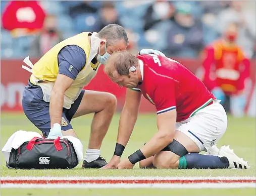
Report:
M240 47L228 46L224 40L218 40L206 47L204 55L202 81L209 90L219 86L225 94L231 95L244 89L250 61Z

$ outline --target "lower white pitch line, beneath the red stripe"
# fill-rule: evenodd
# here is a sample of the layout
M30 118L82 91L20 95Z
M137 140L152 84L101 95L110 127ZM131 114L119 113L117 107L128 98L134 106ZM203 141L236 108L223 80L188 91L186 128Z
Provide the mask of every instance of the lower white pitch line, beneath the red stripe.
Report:
M255 183L197 183L197 184L1 184L1 188L256 188Z

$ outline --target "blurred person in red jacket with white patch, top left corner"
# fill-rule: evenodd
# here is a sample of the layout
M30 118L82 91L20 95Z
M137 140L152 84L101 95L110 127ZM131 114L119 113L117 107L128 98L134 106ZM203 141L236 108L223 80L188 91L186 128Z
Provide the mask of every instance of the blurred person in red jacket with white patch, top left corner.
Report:
M40 31L45 13L37 1L11 1L2 15L2 27L13 37L26 36Z

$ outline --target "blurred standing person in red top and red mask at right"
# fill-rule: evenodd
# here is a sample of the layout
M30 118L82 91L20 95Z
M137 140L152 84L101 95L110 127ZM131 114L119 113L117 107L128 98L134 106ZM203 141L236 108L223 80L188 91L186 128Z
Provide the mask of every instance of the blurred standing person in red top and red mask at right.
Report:
M203 59L202 81L227 112L236 117L244 115L245 81L249 77L250 61L235 42L239 25L230 23L221 39L208 45Z

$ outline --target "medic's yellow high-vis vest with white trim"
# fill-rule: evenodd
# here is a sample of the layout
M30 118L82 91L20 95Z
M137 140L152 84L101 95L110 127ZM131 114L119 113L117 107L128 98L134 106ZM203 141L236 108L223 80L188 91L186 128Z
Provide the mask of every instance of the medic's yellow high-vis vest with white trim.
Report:
M39 85L43 91L43 100L50 101L50 91L52 91L54 82L57 79L59 72L58 54L62 48L68 45L77 45L82 48L86 55L86 62L83 69L78 73L72 85L64 93L64 108L70 109L71 105L77 99L82 91L82 88L87 85L91 79L96 75L100 63L92 64L90 56L90 44L88 40L89 32L83 32L68 38L52 49L46 52L33 66L30 82L34 85ZM87 64L90 64L88 66ZM87 66L86 66L87 65Z

